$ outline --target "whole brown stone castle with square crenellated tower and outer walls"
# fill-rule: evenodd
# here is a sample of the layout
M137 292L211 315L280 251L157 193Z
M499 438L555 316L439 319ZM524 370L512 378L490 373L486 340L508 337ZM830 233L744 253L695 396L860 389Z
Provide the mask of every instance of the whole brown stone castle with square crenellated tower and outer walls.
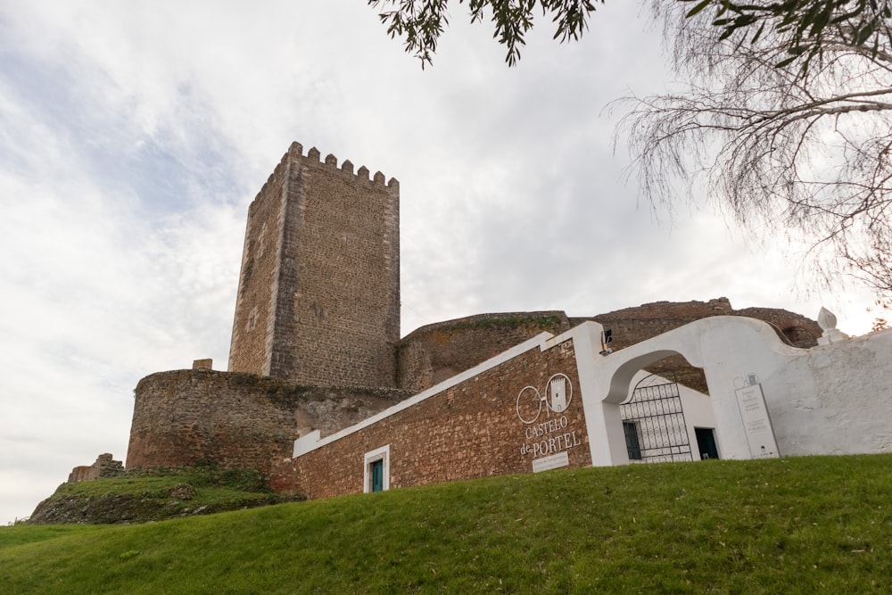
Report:
M640 459L639 442L654 431L591 401L600 390L593 369L705 318L747 317L737 318L739 324L700 325L698 332L745 329L746 337L777 342L780 347L770 349L787 358L784 365L804 361L800 356L822 335L822 327L800 315L733 310L720 298L657 302L589 318L568 318L560 310L483 314L424 326L401 339L399 183L385 182L381 172L370 178L365 167L354 172L351 161L338 167L331 154L321 160L316 148L302 151L291 145L249 208L228 371L197 360L193 369L143 378L135 391L128 468L199 461L255 467L278 490L321 497L628 462ZM605 326L615 339L609 347ZM698 361L698 349L661 348L634 359L631 368L611 368L609 374L625 384L617 384L622 398L611 393L609 399L626 399L630 375L640 368L674 371L682 384L721 393L715 384L720 376ZM607 359L599 351L618 353ZM754 369L739 372L752 380L735 390L758 386L761 395L756 368L768 368L753 361ZM538 395L539 388L541 401L529 402L538 403L541 427L530 426L533 415L521 405L532 394L528 389ZM685 393L683 386L673 390L693 409L690 427L682 418L676 433L689 459L720 450L748 456L736 429L726 439L714 434L736 422L714 414L709 397ZM546 417L554 427L544 424ZM529 442L519 447L518 427ZM467 456L459 456L452 442L463 431L474 444ZM766 435L758 436L763 451L771 442ZM786 447L784 441L779 438ZM657 459L670 451L658 448ZM771 448L776 455L777 446ZM544 449L549 456L537 458Z

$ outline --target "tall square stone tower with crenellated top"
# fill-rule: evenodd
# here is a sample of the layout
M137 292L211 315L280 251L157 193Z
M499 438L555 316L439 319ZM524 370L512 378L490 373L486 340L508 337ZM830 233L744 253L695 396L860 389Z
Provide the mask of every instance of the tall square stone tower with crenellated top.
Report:
M248 209L229 371L393 387L400 184L293 143Z

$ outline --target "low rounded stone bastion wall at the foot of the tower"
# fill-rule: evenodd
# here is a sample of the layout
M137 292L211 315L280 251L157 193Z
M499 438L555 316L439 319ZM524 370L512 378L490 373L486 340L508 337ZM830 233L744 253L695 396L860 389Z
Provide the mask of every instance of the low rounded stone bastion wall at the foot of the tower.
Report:
M250 374L176 370L136 385L127 467L253 467L290 459L312 428L331 434L409 397L389 389L300 386Z

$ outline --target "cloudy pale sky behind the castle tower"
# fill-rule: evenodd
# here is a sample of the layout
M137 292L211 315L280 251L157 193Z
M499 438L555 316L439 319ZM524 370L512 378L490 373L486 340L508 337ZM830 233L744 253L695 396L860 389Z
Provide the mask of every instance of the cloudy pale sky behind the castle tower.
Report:
M453 4L422 70L359 0L0 0L0 523L126 458L140 378L226 369L248 204L293 141L399 179L403 335L720 296L870 329L795 247L640 202L608 104L673 80L634 3L566 45L540 19L515 68Z

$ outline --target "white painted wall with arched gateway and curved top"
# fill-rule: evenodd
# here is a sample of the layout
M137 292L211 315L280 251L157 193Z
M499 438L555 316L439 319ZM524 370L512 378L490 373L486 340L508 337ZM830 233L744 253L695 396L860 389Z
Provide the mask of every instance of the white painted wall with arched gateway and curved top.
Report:
M588 368L589 390L582 392L586 419L601 426L612 421L640 369L674 354L704 368L723 459L754 456L736 393L753 380L764 393L780 455L892 451L892 331L803 350L781 343L771 326L759 320L698 320L610 355L596 353L588 362L580 361L581 377L582 368ZM689 431L710 427L703 401L692 403L699 405L685 409ZM592 433L598 431L590 424L594 464L627 463L627 454L616 450L611 436L610 448L595 458Z

